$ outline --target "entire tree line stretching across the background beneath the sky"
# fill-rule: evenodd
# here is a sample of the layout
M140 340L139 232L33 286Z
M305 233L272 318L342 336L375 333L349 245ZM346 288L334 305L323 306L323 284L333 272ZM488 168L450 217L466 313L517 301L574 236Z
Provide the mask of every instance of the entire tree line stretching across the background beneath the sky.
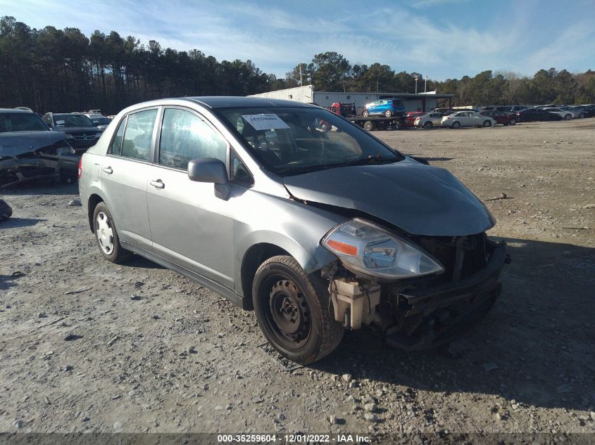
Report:
M27 106L38 112L99 108L114 114L132 103L163 97L246 96L312 84L318 91L437 90L455 95L456 105L595 103L595 71L539 70L533 77L515 72L480 72L475 77L423 78L389 65L351 65L342 54L316 54L284 78L267 74L251 60L222 60L198 49L141 44L133 36L75 27L31 28L13 17L0 18L0 106Z

